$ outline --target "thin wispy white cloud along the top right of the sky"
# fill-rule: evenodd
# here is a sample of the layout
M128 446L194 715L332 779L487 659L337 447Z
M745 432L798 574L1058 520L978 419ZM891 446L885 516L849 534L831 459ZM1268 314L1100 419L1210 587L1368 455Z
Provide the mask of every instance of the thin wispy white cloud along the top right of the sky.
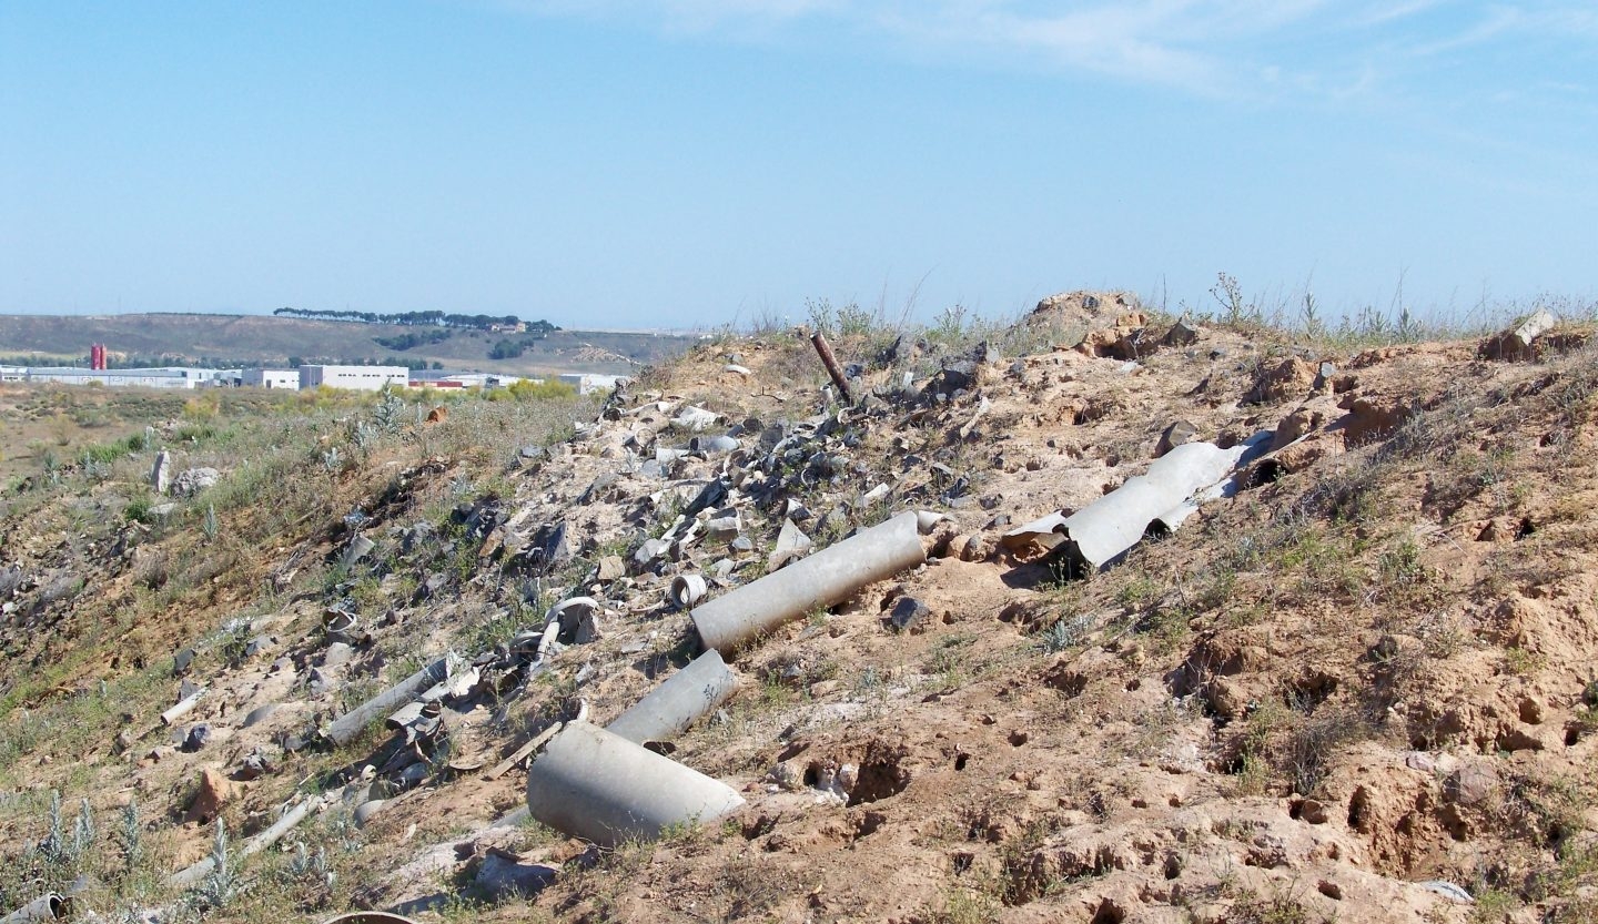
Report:
M1024 61L1200 96L1379 93L1389 53L1419 61L1526 35L1598 38L1568 0L499 0L547 16L735 40L794 26L960 58ZM1317 46L1298 54L1298 46Z

